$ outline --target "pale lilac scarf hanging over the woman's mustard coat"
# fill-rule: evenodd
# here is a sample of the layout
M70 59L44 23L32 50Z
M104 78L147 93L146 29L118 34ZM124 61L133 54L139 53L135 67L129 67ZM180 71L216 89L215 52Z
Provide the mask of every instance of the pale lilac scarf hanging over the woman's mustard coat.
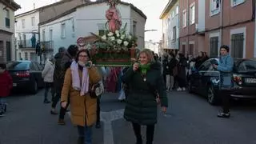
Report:
M72 86L74 90L80 90L80 95L85 95L89 91L89 74L88 69L83 67L82 69L82 85L78 72L78 63L72 62L71 66L71 74L72 74Z

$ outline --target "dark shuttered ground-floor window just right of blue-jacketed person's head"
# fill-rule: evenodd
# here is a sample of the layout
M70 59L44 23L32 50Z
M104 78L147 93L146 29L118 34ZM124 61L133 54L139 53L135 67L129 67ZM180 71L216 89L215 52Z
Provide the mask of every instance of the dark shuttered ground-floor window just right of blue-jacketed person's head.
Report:
M231 56L233 58L243 58L244 34L232 34L231 36Z

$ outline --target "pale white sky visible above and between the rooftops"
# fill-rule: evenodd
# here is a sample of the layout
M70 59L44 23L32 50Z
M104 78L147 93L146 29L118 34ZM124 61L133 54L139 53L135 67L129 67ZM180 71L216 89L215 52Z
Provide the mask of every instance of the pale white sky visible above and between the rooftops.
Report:
M29 10L33 10L34 3L35 8L46 6L59 0L14 0L22 9L17 10L15 14L21 14ZM159 19L162 10L165 8L169 0L122 0L122 2L132 3L138 9L142 10L146 14L146 27L145 30L157 30L148 31L145 33L145 40L152 40L153 42L159 42L162 36L162 21Z

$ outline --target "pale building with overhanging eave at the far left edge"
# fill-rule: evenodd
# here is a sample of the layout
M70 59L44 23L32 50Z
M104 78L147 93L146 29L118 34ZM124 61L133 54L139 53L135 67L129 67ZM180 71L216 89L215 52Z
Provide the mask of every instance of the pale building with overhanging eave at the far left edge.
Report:
M14 11L19 8L10 0L0 1L0 62L15 60Z

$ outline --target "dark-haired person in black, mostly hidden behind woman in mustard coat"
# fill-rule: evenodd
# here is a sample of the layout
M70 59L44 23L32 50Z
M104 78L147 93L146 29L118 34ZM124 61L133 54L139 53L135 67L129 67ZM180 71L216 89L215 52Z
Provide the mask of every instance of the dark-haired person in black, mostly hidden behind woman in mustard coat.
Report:
M61 61L61 70L62 70L62 83L64 82L64 77L66 74L66 70L70 67L71 63L74 61L74 58L78 54L78 46L70 45L69 48L66 50L66 53L62 57ZM66 108L69 106L69 102L66 105ZM61 106L61 110L59 113L58 124L65 125L64 117L66 114L66 108Z

